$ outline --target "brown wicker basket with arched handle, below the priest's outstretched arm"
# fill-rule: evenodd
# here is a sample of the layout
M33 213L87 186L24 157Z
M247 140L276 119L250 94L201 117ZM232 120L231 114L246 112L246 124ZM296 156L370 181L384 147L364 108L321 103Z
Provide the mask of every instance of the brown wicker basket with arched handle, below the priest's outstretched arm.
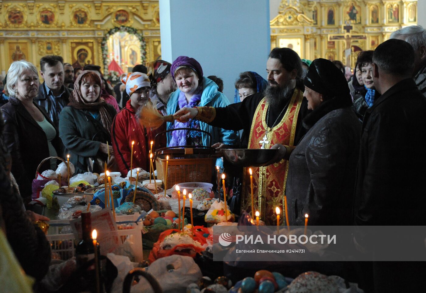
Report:
M195 130L211 134L198 129L176 128L167 130ZM161 135L161 132L155 136ZM158 149L155 152L155 168L157 169L157 179L164 182L164 189L170 189L173 185L185 182L210 182L216 158L211 155L215 149L210 146L176 146ZM164 175L166 174L167 155L169 155L169 164L167 166L167 186Z

